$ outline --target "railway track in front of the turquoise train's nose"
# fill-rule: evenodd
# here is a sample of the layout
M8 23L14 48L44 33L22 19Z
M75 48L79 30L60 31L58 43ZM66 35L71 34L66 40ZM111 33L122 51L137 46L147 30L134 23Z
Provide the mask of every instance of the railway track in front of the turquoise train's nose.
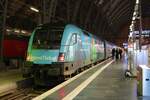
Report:
M3 91L0 91L0 100L31 100L46 91L34 89L33 85L32 79L21 80L15 85L8 85Z

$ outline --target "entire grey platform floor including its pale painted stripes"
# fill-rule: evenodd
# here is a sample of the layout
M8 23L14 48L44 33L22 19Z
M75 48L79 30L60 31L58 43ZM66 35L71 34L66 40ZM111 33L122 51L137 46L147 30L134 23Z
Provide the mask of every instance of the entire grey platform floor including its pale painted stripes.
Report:
M150 100L149 97L137 96L136 79L125 78L124 72L127 61L124 60L113 61L87 86L85 86L86 80L106 63L93 68L56 91L54 89L49 90L47 93L50 94L44 93L41 97L47 95L42 97L43 100ZM33 100L38 100L38 98L40 96Z

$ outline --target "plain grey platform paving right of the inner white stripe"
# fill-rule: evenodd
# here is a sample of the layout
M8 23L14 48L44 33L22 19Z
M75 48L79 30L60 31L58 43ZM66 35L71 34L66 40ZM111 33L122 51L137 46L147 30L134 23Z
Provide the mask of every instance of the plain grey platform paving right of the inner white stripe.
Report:
M75 100L137 100L136 80L126 79L122 63L113 62Z

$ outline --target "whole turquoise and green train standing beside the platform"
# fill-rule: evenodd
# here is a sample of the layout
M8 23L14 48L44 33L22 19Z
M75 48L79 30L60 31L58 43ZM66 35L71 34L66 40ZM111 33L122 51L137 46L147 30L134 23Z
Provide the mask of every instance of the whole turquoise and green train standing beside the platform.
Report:
M45 24L29 40L24 76L35 84L48 85L53 79L68 79L111 56L113 45L79 27Z

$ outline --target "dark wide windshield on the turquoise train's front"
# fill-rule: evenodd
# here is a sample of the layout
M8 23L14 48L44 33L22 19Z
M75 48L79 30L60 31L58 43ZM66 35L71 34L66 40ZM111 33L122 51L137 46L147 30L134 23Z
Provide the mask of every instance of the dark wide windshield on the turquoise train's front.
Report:
M37 29L33 38L33 48L59 49L63 30Z

